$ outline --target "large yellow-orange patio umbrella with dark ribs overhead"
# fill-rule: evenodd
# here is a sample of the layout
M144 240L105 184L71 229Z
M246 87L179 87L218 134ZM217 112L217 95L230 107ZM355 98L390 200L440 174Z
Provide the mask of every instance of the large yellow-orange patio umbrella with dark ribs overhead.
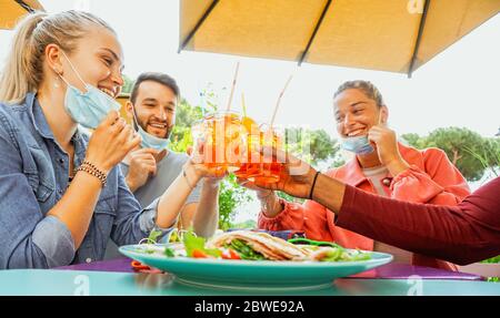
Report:
M500 0L181 0L181 50L411 73Z

